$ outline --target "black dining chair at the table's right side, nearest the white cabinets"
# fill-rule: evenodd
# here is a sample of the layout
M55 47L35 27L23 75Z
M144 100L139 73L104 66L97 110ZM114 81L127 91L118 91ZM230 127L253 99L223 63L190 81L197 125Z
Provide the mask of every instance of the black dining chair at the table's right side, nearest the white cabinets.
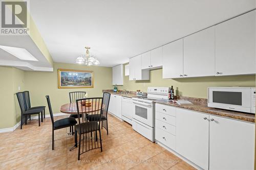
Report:
M106 134L109 134L109 127L108 127L108 110L109 110L109 103L110 103L110 93L104 92L103 93L103 108L101 112L101 129L104 127L106 129ZM99 115L87 115L87 119L89 121L98 120Z

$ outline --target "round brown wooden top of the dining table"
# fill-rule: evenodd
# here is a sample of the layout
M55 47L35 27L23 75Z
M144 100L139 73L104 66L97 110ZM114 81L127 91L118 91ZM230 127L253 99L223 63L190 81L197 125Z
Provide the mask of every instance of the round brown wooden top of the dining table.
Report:
M104 104L102 105L102 109L103 108L104 108ZM87 109L85 112L94 112L94 111L100 110L100 106L98 106L98 102L97 102L96 106L94 103L93 107L86 107L86 106L79 105L79 110L81 110L81 109L84 111L85 111L85 109ZM77 114L76 103L67 103L65 105L62 105L60 107L60 112L68 113L68 114Z

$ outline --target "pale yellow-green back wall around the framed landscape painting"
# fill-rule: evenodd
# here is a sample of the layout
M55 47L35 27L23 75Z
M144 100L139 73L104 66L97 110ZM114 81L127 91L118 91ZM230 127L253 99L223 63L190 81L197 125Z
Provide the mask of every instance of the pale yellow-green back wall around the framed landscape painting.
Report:
M94 88L58 89L57 69L94 71ZM69 103L70 91L86 91L89 97L101 97L102 89L112 88L112 68L54 63L54 72L25 71L26 90L30 92L31 106L47 106L45 96L50 96L53 113L60 113L60 106ZM46 114L49 114L48 106Z

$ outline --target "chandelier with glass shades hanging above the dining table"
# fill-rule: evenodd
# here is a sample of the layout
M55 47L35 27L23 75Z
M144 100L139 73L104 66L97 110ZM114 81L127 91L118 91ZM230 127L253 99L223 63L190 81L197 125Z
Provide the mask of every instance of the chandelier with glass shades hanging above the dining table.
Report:
M76 63L85 65L98 65L99 61L89 53L89 46L86 46L86 55L81 55L77 57Z

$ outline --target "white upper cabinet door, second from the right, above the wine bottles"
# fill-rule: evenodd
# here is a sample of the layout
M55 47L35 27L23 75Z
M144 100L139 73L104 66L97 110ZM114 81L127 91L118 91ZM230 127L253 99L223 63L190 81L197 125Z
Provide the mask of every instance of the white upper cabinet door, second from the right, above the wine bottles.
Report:
M183 39L184 77L215 75L215 27Z

